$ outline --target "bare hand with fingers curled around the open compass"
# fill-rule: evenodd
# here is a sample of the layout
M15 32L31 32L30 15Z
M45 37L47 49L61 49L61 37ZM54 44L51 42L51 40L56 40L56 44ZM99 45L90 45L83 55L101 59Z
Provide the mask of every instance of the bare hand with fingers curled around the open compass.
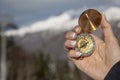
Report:
M104 80L111 67L120 60L120 46L113 34L111 25L102 15L101 29L104 34L104 41L92 35L95 40L95 51L92 55L80 59L75 51L77 35L81 33L80 26L76 26L73 31L66 33L65 50L78 69L85 72L95 80Z

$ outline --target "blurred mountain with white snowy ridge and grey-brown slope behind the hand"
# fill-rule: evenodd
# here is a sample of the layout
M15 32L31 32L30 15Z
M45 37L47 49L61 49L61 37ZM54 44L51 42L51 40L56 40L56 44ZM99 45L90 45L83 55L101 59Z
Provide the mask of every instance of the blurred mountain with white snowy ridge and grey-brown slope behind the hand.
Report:
M65 33L78 24L78 17L83 10L66 11L59 16L49 17L46 20L26 25L19 30L6 32L6 35L16 36L16 43L29 53L43 50L53 54L53 57L64 58L66 53L63 49ZM120 33L120 8L111 7L103 12L115 27L114 32ZM99 33L99 31L96 32L101 37L102 35Z

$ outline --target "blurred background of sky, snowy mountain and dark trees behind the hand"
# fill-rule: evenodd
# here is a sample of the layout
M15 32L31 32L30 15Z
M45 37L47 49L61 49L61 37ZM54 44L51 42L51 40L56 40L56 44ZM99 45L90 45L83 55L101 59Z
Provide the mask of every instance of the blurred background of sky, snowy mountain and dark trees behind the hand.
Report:
M89 8L105 14L120 43L120 0L0 0L0 80L92 80L63 48Z

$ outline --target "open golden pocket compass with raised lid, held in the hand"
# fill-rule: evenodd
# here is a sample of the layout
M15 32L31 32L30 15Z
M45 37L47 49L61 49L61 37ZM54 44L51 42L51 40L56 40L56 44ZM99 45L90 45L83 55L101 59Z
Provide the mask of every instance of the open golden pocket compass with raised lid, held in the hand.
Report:
M99 27L101 19L101 13L95 9L88 9L79 17L78 23L82 33L77 37L77 50L81 52L81 56L89 56L94 52L95 41L89 33Z

